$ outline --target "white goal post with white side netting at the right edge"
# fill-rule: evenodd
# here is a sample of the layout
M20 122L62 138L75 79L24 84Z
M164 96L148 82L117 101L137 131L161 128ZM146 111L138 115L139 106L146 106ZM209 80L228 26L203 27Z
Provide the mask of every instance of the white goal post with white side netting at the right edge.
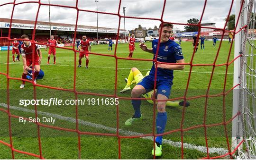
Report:
M239 17L240 8L241 15ZM235 34L234 57L242 55L234 61L234 86L240 84L233 91L232 121L232 151L242 141L243 144L236 152L237 159L256 159L256 46L255 16L256 0L236 0L236 24L238 32ZM239 19L238 19L239 17Z

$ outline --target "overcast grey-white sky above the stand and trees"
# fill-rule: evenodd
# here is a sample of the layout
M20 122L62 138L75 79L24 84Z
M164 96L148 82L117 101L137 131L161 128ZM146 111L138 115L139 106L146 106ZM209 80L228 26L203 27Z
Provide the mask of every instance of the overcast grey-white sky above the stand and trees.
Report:
M16 0L16 3L26 2L29 0ZM37 0L33 0L37 1ZM118 13L119 0L98 0L98 11ZM0 4L12 2L12 0L0 0ZM204 0L166 0L164 21L175 23L186 23L189 18L200 19ZM41 0L41 3L48 3L48 0ZM76 0L50 0L50 4L63 6L76 5ZM123 7L126 7L125 16L144 17L144 18L161 18L164 0L122 0L119 14L123 16ZM208 0L202 23L216 23L216 27L223 28L227 17L231 0ZM38 3L24 3L15 6L13 18L35 20ZM0 7L0 17L10 18L13 4ZM78 0L78 8L84 10L96 11L95 0ZM77 10L73 8L50 7L51 22L75 24ZM235 14L235 2L231 14ZM96 13L79 11L78 25L97 26ZM38 15L38 21L49 21L48 6L41 5ZM142 27L151 27L159 25L157 20L142 20L125 18L126 30ZM115 15L98 14L98 26L118 28L119 17ZM124 28L124 19L121 18L120 27ZM183 30L183 25L174 25Z

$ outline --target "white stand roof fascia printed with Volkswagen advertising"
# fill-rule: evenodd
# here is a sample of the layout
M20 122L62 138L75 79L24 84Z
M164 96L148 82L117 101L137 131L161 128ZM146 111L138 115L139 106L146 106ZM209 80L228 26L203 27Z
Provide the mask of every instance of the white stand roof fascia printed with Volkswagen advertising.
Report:
M9 28L10 19L0 18L0 28ZM34 29L35 21L12 19L12 28L18 29ZM50 30L49 22L37 21L37 29L39 30ZM62 24L62 23L51 23L51 30L58 31L74 31L75 25ZM98 27L99 33L117 33L117 28ZM96 26L90 25L77 25L77 32L97 32ZM124 34L124 30L119 30L120 34Z

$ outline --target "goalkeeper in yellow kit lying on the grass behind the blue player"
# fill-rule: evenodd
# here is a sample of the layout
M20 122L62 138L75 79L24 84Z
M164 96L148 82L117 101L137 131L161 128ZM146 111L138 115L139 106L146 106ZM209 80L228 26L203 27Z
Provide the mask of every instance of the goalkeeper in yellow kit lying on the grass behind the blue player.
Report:
M150 71L148 71L145 76L148 76L149 72ZM131 90L130 86L132 84L138 84L145 76L143 76L142 73L136 67L131 68L128 78L125 78L125 82L127 84L124 87L124 89L122 91L120 91L119 93L125 93L125 92ZM153 98L153 93L154 93L154 90L152 90L151 92L148 92L146 94L142 94L142 96L145 98ZM148 101L151 104L154 104L153 100L146 100L146 101ZM166 102L166 106L169 106L169 107L179 107L179 106L183 106L183 105L184 105L184 101L167 101ZM185 107L188 107L188 106L190 106L190 103L187 101L185 104Z

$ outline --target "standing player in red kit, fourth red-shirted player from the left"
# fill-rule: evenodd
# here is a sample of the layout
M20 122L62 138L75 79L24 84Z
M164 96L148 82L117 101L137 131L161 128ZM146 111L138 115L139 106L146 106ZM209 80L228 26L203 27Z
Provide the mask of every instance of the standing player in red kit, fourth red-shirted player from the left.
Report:
M91 43L89 40L86 39L86 35L83 35L82 36L82 41L79 43L79 46L78 46L78 49L79 51L85 51L87 53L82 53L80 52L79 54L79 65L78 67L82 67L81 64L82 64L82 58L85 56L86 58L86 67L85 68L88 68L88 64L89 64L89 53L91 52ZM88 50L89 49L89 50Z

